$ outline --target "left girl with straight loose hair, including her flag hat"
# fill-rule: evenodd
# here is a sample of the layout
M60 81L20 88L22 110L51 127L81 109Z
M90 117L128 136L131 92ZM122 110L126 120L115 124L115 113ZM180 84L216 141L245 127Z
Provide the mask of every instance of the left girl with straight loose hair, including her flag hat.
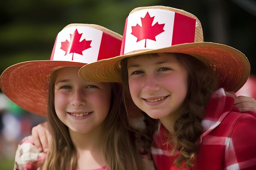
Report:
M3 93L32 113L47 114L53 136L47 155L25 138L15 170L144 169L119 99L121 86L78 75L81 66L117 55L120 46L121 35L102 26L70 24L58 33L50 60L19 63L2 73Z

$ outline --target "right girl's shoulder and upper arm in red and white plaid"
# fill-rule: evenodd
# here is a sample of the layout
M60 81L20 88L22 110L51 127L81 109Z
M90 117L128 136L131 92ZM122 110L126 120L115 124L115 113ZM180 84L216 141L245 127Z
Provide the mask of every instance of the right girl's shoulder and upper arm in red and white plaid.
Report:
M236 111L225 114L202 139L201 166L208 167L209 163L204 162L211 161L225 169L256 170L256 114Z

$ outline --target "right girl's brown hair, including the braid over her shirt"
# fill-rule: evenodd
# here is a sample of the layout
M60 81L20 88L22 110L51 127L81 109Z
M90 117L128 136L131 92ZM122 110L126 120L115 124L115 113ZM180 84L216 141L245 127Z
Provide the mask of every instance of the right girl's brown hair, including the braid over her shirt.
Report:
M175 121L175 132L172 135L168 134L166 144L173 145L170 151L172 154L177 150L181 153L174 161L175 166L183 169L182 164L185 163L188 168L192 168L199 150L200 135L203 132L201 121L204 117L204 106L211 94L217 90L218 82L213 71L200 60L186 54L173 54L188 71L188 93L184 100L184 114ZM157 57L159 55L154 53L141 56ZM121 69L124 93L130 97L127 58L121 61ZM154 127L155 124L150 126Z

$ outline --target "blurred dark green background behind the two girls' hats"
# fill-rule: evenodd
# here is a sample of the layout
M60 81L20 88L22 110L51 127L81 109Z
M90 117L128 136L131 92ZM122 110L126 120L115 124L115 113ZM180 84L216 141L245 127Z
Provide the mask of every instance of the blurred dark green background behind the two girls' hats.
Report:
M70 23L92 23L123 33L128 13L135 7L164 5L193 13L202 22L204 41L227 44L242 51L256 74L255 0L8 0L0 5L0 73L28 60L48 60L63 27ZM232 63L230 63L232 64ZM5 108L8 109L9 108ZM13 113L13 111L12 111ZM15 117L33 117L31 127L45 119L22 112ZM6 122L5 122L6 123ZM21 126L21 125L20 125ZM2 129L2 127L1 127ZM20 134L12 149L1 141L0 170L13 169L13 157ZM1 135L1 140L4 137Z

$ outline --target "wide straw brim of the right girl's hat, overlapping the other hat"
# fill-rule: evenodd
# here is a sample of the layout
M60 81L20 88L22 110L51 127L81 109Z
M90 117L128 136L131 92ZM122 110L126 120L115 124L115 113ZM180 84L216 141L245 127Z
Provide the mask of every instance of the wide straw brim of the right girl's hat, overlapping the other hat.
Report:
M87 64L79 70L79 76L92 82L121 82L120 61L127 57L150 53L191 55L213 69L218 77L219 88L224 88L226 91L238 91L250 74L247 57L237 49L213 42L194 42L162 49L132 51L125 55Z

